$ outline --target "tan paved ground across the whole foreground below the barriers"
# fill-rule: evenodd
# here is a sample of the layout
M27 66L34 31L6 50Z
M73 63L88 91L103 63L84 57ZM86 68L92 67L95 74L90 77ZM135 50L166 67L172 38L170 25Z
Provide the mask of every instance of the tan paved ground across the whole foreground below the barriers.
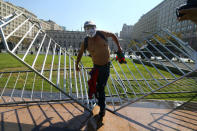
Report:
M118 111L118 116L106 113L101 123L96 123L98 107L94 115L75 103L57 103L24 107L0 107L1 131L192 131L197 130L197 104L137 102ZM175 109L174 109L175 108Z

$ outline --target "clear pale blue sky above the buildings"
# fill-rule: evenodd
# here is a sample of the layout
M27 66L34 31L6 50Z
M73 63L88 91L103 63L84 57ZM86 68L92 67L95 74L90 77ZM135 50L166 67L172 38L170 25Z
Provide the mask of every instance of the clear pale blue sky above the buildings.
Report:
M163 0L5 0L33 12L39 19L53 20L67 30L81 30L87 20L97 29L120 32L124 23L139 18Z

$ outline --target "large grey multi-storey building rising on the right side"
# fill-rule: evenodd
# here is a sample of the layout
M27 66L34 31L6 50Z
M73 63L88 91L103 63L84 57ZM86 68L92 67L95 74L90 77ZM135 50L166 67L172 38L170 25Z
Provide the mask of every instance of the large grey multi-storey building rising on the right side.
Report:
M181 34L182 39L197 49L197 26L191 21L177 21L176 8L186 0L164 0L155 8L144 14L134 25L132 39L143 40L161 28Z

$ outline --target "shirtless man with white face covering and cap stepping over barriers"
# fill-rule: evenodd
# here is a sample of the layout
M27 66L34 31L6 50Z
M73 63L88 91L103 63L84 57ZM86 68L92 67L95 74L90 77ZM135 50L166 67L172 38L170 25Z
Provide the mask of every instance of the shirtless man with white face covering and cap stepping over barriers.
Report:
M90 72L91 79L88 81L88 95L89 99L92 99L92 95L95 94L100 107L99 116L102 118L105 115L105 86L110 74L110 50L107 38L111 37L116 43L119 54L122 54L122 49L117 37L113 33L96 30L96 25L92 21L85 22L84 30L87 37L81 44L81 49L77 56L76 69L79 71L78 64L83 52L88 50L94 64Z

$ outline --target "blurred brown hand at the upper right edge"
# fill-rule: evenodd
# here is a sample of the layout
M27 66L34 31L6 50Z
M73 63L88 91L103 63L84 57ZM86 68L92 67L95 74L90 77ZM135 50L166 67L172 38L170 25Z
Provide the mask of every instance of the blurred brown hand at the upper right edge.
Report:
M184 15L178 18L179 21L191 20L197 24L197 8L183 9L180 13Z

